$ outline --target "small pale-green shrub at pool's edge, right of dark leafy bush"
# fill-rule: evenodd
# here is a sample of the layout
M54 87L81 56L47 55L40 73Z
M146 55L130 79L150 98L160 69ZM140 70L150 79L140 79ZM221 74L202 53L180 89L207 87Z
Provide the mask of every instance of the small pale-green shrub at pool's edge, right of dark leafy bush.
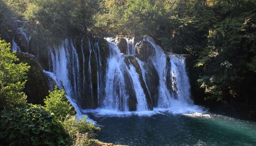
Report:
M86 116L79 120L77 120L75 116L67 116L63 122L63 126L72 139L76 138L77 133L86 134L90 137L94 135L95 131L100 130L94 123L87 122Z

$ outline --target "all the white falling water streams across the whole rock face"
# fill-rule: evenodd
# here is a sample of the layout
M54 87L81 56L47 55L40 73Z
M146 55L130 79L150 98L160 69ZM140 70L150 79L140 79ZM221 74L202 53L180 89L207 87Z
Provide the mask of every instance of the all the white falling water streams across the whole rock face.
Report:
M26 34L19 28L20 33L29 43L29 39ZM132 39L125 38L127 41L127 55L136 55L136 44L134 37ZM48 45L49 55L49 71L45 71L46 76L51 78L58 87L64 87L68 100L75 107L79 115L82 115L80 101L82 98L88 98L90 96L93 99L94 96L98 96L98 108L103 113L134 113L129 112L128 101L132 96L136 96L136 112L151 113L148 110L148 103L146 100L146 94L143 91L142 84L140 83L139 73L136 72L135 66L129 62L125 62L127 55L120 53L117 47L117 39L112 42L112 38L106 38L109 43L109 57L107 58L106 74L102 73L102 58L101 48L99 43L92 43L87 38L89 56L84 53L83 41L81 40L81 53L82 60L80 61L82 66L79 66L79 54L77 48L73 44L71 39L65 39L59 46ZM144 40L151 43L154 47L155 54L151 56L151 63L155 67L159 76L158 86L158 106L154 107L153 112L169 111L172 113L193 113L193 111L200 112L200 107L193 105L190 95L189 79L185 70L185 58L176 54L165 54L163 49L156 45L152 38L144 37ZM27 47L28 49L28 47ZM12 51L20 51L19 46L14 39L12 40ZM39 51L38 51L39 52ZM91 57L94 55L97 61L97 95L93 93L92 85L92 66ZM39 56L39 54L37 54ZM89 58L86 62L85 58ZM170 58L169 62L166 59ZM146 84L146 73L148 72L147 64L150 62L141 61L136 58L140 69L142 71L143 81L146 85L146 89L150 95L148 84ZM88 68L86 68L88 64ZM80 69L81 68L81 69ZM170 68L170 72L167 70ZM81 73L82 72L82 73ZM86 73L88 72L88 74ZM81 76L80 76L81 74ZM171 76L170 82L172 87L167 87L167 76ZM89 81L86 78L89 78ZM81 78L81 79L80 79ZM131 88L127 88L128 81L131 82ZM89 87L87 87L87 82ZM103 85L104 84L104 85ZM89 88L90 93L87 93L85 88ZM169 91L172 89L172 92ZM53 89L53 87L51 87ZM130 91L134 94L131 94ZM87 93L87 96L86 96ZM83 96L82 96L83 95ZM150 97L151 98L151 97ZM146 112L147 111L147 112ZM136 113L135 112L135 113Z

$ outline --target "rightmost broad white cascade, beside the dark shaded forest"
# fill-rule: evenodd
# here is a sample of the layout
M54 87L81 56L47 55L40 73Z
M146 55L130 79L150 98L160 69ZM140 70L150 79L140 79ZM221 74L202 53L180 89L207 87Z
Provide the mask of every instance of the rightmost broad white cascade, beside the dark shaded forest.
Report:
M186 108L191 107L192 100L190 95L189 79L185 69L185 58L172 54L166 55L162 48L155 44L152 38L146 39L153 45L155 49L155 56L152 57L155 68L159 75L159 95L158 95L158 107L159 108ZM170 58L171 72L167 72L166 57ZM177 93L177 100L171 95L166 85L166 76L171 74L172 88ZM176 86L176 88L174 88Z

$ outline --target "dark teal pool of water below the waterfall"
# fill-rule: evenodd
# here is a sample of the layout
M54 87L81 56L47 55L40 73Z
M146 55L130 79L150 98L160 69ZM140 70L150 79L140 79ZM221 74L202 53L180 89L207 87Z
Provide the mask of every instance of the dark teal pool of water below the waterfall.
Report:
M110 113L89 113L101 127L100 141L129 146L256 146L252 121L207 112Z

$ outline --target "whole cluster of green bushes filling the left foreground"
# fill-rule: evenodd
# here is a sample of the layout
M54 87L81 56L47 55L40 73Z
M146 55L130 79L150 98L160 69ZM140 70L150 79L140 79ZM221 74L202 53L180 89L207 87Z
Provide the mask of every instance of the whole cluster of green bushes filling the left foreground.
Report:
M75 111L64 90L49 91L45 106L26 103L27 64L19 61L10 43L0 39L0 144L79 145L95 143L91 137L100 130L93 123L75 119ZM81 136L82 135L82 136ZM96 144L95 144L96 145Z

